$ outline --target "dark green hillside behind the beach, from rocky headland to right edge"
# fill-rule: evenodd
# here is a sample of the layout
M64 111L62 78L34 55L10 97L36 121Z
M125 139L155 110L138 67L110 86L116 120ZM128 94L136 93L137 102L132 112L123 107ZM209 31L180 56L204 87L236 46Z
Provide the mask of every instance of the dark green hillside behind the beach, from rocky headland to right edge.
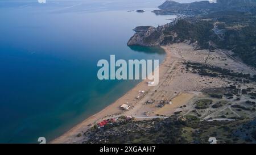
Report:
M150 27L137 32L127 45L167 45L189 41L199 49L227 49L246 64L256 66L256 15L220 11Z

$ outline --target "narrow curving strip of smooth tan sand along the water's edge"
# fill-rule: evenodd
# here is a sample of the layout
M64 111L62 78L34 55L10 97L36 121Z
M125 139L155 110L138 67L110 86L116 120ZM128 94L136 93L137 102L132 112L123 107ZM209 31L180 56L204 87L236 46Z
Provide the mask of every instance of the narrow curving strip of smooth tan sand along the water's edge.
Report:
M163 78L163 75L164 75L164 72L163 72L164 64L166 64L168 60L170 60L170 52L168 52L167 49L164 47L160 47L160 48L164 49L164 51L166 52L166 56L164 57L163 62L159 65L159 84L158 85L160 85L160 79ZM93 124L95 124L96 122L99 122L102 119L108 118L109 115L118 115L118 114L125 115L125 113L128 111L123 111L119 107L122 104L126 103L125 100L127 100L127 98L137 97L136 95L138 94L139 90L149 91L150 89L157 87L157 86L147 86L147 81L148 81L147 79L144 79L143 81L139 82L131 90L127 91L122 97L115 100L115 102L109 104L109 106L105 107L100 112L97 112L96 114L89 116L89 118L84 119L81 123L75 125L71 129L69 129L67 132L63 133L63 135L56 137L49 143L53 143L53 144L54 143L57 143L57 144L58 143L77 143L77 141L80 140L79 137L77 137L77 135L81 132L82 133L86 132L89 128L93 127ZM92 125L89 125L89 124L92 124ZM73 139L77 139L77 140L74 141Z

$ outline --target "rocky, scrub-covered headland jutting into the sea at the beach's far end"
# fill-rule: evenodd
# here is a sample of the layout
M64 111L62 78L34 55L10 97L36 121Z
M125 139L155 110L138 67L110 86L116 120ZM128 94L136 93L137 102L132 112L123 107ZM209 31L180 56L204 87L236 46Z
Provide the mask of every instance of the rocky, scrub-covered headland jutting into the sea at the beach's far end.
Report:
M214 37L213 24L208 22L191 23L185 19L176 19L164 26L143 27L130 38L127 45L158 46L188 41L201 47L208 47L210 37ZM141 27L139 28L141 29Z

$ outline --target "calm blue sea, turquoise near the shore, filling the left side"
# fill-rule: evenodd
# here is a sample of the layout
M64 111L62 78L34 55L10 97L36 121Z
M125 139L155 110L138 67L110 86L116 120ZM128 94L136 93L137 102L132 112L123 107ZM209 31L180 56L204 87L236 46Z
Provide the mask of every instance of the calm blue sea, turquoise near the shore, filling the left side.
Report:
M160 48L126 45L136 26L174 18L150 12L162 2L1 1L0 143L52 140L137 85L98 80L97 61L162 61Z

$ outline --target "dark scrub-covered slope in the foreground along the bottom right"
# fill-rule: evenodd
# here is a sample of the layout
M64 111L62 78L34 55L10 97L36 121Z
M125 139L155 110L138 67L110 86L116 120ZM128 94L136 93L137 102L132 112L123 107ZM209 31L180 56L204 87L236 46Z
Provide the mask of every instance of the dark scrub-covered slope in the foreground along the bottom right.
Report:
M244 125L240 125L242 123ZM245 137L240 133L244 127L251 128ZM216 137L218 143L254 143L255 129L255 120L200 122L196 116L173 115L164 120L122 120L101 129L92 128L84 133L86 139L82 143L208 144L210 136Z

